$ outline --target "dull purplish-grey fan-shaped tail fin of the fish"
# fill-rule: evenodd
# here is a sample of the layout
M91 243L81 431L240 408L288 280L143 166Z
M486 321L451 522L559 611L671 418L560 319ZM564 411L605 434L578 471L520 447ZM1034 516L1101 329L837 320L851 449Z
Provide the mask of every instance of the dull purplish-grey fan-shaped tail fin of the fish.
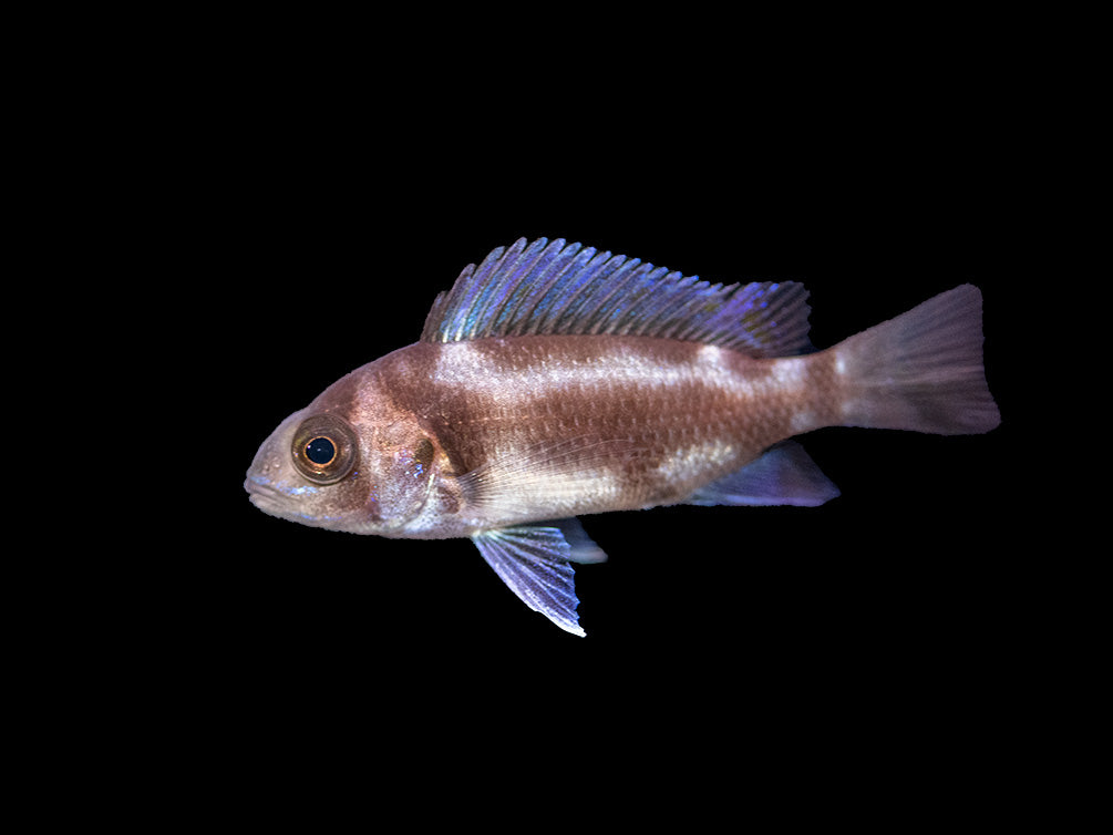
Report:
M988 432L1001 413L985 382L982 342L982 292L964 284L836 345L841 423Z

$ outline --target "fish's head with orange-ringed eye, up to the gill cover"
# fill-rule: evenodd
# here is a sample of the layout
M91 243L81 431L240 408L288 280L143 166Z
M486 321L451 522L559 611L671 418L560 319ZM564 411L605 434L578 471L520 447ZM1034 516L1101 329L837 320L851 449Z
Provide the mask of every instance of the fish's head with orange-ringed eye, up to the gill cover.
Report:
M353 372L284 420L247 471L252 503L314 528L405 536L443 455L386 394L374 374Z

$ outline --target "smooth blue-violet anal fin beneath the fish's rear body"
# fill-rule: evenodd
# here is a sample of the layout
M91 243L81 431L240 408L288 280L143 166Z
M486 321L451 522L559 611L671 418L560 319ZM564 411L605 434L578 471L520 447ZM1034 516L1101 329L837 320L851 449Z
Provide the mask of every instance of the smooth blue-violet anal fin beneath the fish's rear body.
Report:
M688 499L688 504L796 504L814 508L839 494L816 462L795 441L769 448L757 461Z

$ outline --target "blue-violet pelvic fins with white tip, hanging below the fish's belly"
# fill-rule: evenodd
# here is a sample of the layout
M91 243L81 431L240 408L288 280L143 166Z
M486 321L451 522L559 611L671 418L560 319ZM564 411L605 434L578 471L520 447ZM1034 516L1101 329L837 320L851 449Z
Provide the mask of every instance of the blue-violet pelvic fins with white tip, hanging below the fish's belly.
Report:
M522 602L564 631L585 635L575 613L580 600L575 596L572 561L598 562L607 556L578 521L483 531L472 537L472 541Z

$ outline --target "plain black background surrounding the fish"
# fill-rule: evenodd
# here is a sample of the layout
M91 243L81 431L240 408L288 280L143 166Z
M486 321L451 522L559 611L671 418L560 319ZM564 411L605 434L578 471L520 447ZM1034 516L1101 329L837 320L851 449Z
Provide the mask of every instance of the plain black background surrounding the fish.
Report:
M1043 800L1063 828L1093 777L1067 772L1065 803L1046 777L1083 759L1061 740L1092 745L1078 706L1107 656L1084 640L1104 612L1084 592L1105 587L1078 533L1101 520L1080 495L1101 493L1041 470L1101 478L1093 381L1062 367L1089 371L1075 316L1101 273L1064 262L1097 220L1053 236L1100 203L1082 150L1101 51L1046 16L779 9L41 29L50 48L13 76L33 107L10 132L36 147L11 155L31 184L12 237L33 257L12 259L6 308L31 333L9 361L9 471L43 477L10 503L6 587L28 615L9 619L29 659L9 690L39 708L11 711L37 809L888 831L1031 822ZM66 24L81 49L55 42ZM811 433L841 490L821 508L584 518L610 554L578 568L587 638L469 541L254 508L244 477L272 430L416 340L435 294L520 236L804 282L819 347L974 283L1004 422ZM47 345L66 352L49 392L20 389ZM1041 403L1083 430L1037 423ZM17 542L36 503L50 523Z

